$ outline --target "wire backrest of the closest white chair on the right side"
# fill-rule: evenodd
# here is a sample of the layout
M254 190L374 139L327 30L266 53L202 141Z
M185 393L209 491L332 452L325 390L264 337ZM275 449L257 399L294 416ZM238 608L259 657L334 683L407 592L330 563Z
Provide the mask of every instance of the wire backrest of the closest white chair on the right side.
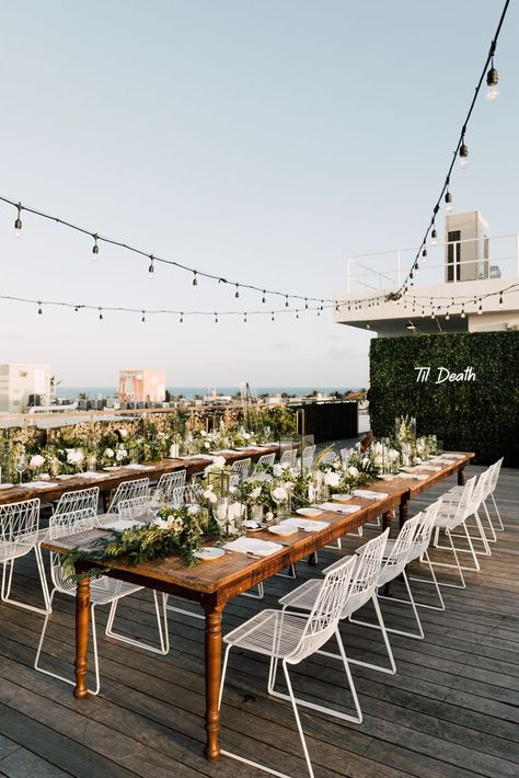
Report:
M341 564L326 573L299 643L286 657L289 664L301 662L333 636L347 597L354 568L355 558L346 557L341 560Z

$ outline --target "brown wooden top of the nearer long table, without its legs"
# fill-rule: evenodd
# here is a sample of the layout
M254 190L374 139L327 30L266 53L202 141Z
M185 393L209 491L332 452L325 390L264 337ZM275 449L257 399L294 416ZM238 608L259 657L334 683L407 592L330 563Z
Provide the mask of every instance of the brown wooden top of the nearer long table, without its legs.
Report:
M115 577L120 577L131 583L140 583L171 594L181 594L192 599L200 599L211 595L216 597L217 602L224 603L237 594L254 586L260 581L274 575L276 572L289 567L289 564L326 546L342 535L353 531L383 513L394 511L401 504L403 497L412 496L436 485L439 481L454 473L460 467L466 465L473 456L474 454L463 453L463 459L445 465L439 472L428 472L427 479L424 481L397 477L391 481L373 482L367 489L380 492L380 500L350 497L346 504L360 505L359 511L353 514L323 512L316 520L327 522L328 526L316 533L300 530L295 535L282 538L267 530L250 534L251 537L258 539L282 542L281 549L269 557L252 559L244 553L230 551L219 559L203 561L193 568L187 567L176 556L134 567L125 565L123 562L105 564L104 562L91 563L90 560L85 560L83 563L78 562L78 568L107 567ZM78 544L78 536L71 535L53 542L47 541L43 544L43 548L64 553L79 545L80 547L84 546L86 550L90 542L103 537L105 533L106 530L103 529L93 529L81 534L81 544Z

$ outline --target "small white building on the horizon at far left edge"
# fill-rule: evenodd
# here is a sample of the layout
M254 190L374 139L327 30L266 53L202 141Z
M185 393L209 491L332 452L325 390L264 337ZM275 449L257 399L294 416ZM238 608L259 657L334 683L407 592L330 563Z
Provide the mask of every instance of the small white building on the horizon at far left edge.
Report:
M48 405L50 377L48 365L0 365L0 412L24 413L30 405Z

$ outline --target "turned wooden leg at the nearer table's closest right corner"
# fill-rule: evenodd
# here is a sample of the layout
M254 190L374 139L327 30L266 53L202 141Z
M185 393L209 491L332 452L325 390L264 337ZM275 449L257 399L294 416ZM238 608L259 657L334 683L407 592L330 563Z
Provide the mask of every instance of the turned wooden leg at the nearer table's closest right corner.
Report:
M206 759L220 758L220 694L221 675L221 606L207 606L206 611Z

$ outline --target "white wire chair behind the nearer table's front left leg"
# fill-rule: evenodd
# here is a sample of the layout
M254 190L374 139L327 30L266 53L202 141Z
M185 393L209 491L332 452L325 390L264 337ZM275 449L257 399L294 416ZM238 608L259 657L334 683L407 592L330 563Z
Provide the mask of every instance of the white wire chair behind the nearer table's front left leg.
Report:
M67 535L72 535L72 534L78 534L78 539L79 539L80 535L82 533L89 531L97 526L100 526L99 519L97 519L97 516L95 515L95 512L92 508L84 508L82 511L74 511L69 514L59 514L57 516L56 515L50 516L48 539L56 540L60 537L64 537ZM69 597L76 597L76 588L77 588L76 583L73 583L72 581L70 581L66 576L65 571L61 567L60 560L59 560L59 554L54 553L54 552L50 554L50 575L51 575L53 584L54 584L54 588L50 593L50 600L49 600L50 606L53 605L54 596L57 593L68 595ZM128 638L124 634L116 633L113 630L113 623L114 623L116 609L117 609L117 605L118 605L119 599L122 599L123 597L127 597L130 594L135 594L136 592L138 592L142 588L143 588L143 586L126 583L125 581L119 581L117 579L107 577L106 575L102 575L99 579L94 579L91 581L90 614L91 614L91 621L92 621L92 648L93 648L93 655L94 655L94 677L95 677L94 688L89 689L89 691L92 695L99 694L99 690L101 687L99 654L97 654L97 634L96 634L96 626L95 626L95 608L97 605L109 605L111 606L109 614L108 614L108 620L107 620L106 629L105 629L105 634L108 636L109 638L114 638L115 640L117 640L119 642L128 643L130 645L135 645L140 649L145 649L146 651L151 651L152 653L155 653L155 654L165 655L168 653L168 651L170 650L165 610L164 610L164 608L162 608L162 611L163 611L162 618L164 619L164 627L163 627L162 621L161 621L161 613L160 613L160 607L159 607L159 600L157 597L157 592L153 592L153 599L154 599L154 607L155 607L155 614L157 614L157 622L158 622L158 628L159 628L160 648L157 648L154 645L149 645L149 644L143 643L139 640L135 640L134 638ZM42 634L39 638L38 648L36 651L36 659L34 661L34 667L39 673L45 673L45 675L50 675L53 678L58 678L59 680L64 680L66 684L70 684L73 686L76 683L74 680L67 678L66 676L59 675L57 673L54 673L49 670L45 670L44 667L41 666L39 660L41 660L41 655L42 655L42 649L43 649L49 618L50 618L50 613L47 613L47 615L45 617L44 626L42 629Z

